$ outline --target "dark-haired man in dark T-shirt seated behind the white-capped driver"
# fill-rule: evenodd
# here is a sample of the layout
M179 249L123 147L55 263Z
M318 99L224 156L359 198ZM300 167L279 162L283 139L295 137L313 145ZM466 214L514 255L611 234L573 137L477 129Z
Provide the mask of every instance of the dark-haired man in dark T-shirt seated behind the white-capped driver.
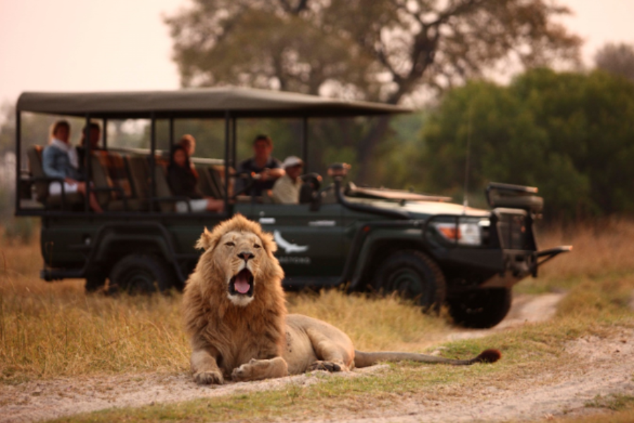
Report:
M273 141L268 135L258 135L253 142L254 157L242 161L238 166L238 173L251 173L255 177L254 184L244 191L245 195L262 195L265 190L271 190L275 180L284 176L284 169L278 159L271 156Z

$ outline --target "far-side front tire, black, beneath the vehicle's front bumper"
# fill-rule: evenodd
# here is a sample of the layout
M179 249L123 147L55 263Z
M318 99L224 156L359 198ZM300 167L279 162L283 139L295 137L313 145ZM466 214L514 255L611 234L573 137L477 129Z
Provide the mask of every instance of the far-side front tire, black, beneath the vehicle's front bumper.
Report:
M511 308L511 290L486 288L449 298L449 314L454 323L466 328L492 328L506 317Z

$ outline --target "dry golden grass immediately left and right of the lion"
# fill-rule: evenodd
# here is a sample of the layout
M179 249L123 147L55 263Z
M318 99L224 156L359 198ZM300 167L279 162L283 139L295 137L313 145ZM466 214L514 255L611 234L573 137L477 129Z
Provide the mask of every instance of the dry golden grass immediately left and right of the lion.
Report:
M0 260L0 383L189 369L179 293L107 298L86 295L79 280L46 283L37 240L0 244ZM290 295L289 310L329 321L374 350L421 350L448 327L396 298L336 290Z

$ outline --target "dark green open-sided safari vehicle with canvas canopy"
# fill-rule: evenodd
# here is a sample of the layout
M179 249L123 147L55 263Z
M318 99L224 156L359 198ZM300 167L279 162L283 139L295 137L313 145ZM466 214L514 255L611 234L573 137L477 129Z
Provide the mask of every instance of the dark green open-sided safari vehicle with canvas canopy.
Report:
M303 204L273 204L266 195L244 197L234 192L237 178L249 179L233 171L240 119L299 119L303 137L297 143L298 155L310 169L309 118L409 111L399 106L217 88L25 92L16 109L21 173L15 214L41 216L46 281L85 278L87 290L182 288L200 255L194 245L203 228L240 213L273 233L286 289L344 286L349 291L396 291L427 309L449 305L455 321L464 326L490 327L509 311L515 283L537 276L543 262L568 250L537 250L533 223L542 199L535 188L492 183L487 190L492 209L474 209L447 197L359 188L346 180L347 166L335 165L323 186L318 186L321 176L306 177L313 191ZM42 146L23 151L21 145L20 118L25 113L101 123L102 149L87 152L85 176L91 176L87 189L97 195L103 214L90 212L86 197L63 191L49 195L47 187L54 179L42 171ZM177 212L175 203L183 199L172 195L166 183L166 157L157 148L158 123L168 128L173 145L175 121L194 118L223 122L223 157L193 159L201 190L225 201L220 214ZM149 120L148 148L109 146L108 121L126 119Z

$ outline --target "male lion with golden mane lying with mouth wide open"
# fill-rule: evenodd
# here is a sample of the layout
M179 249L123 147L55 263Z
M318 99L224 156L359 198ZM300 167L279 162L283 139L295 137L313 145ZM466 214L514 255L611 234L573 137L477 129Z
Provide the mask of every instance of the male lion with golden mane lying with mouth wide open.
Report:
M473 364L495 362L497 350L471 360L414 353L362 353L350 338L324 321L288 314L284 272L277 245L258 223L237 215L205 229L197 247L205 252L185 286L185 322L198 384L225 378L254 381L322 369L349 371L379 361Z

